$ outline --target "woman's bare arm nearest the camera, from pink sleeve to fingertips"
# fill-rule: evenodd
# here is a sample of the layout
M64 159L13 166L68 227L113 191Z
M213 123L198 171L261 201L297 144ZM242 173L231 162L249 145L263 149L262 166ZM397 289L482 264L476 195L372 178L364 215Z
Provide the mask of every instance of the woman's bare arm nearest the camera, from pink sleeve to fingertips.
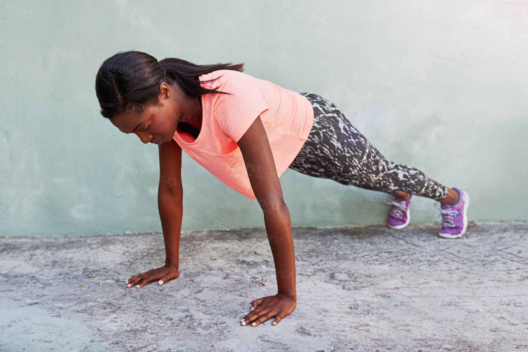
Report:
M282 199L275 160L260 116L254 120L237 144L246 164L251 188L264 213L278 287L275 296L251 302L251 312L241 320L241 325L257 326L274 317L275 320L271 324L277 325L282 318L293 312L297 301L290 213Z

